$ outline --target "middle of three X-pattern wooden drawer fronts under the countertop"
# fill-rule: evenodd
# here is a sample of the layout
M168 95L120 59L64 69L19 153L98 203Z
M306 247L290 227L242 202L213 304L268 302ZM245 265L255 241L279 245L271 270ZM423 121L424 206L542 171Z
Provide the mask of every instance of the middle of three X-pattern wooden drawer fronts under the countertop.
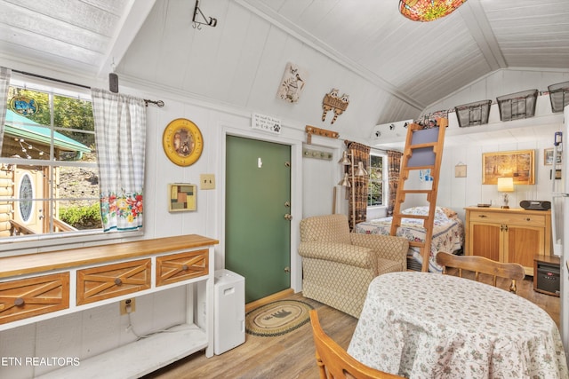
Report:
M150 259L77 271L77 305L150 288Z

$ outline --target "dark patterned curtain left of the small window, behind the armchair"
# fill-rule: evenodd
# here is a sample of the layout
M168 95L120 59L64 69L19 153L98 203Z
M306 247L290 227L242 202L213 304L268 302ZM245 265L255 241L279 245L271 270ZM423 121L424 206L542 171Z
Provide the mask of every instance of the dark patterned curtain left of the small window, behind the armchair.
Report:
M370 146L365 146L357 142L344 141L348 151L352 151L354 154L354 167L349 168L349 178L352 178L351 170L357 170L357 162L364 163L364 170L369 170L370 162ZM348 167L348 166L347 166ZM355 172L354 172L355 173ZM367 192L369 186L369 177L354 177L354 183L349 187L349 228L354 229L354 226L358 223L365 221L367 217ZM354 196L352 197L351 191L354 191ZM353 201L352 201L353 199ZM352 218L356 211L356 220Z

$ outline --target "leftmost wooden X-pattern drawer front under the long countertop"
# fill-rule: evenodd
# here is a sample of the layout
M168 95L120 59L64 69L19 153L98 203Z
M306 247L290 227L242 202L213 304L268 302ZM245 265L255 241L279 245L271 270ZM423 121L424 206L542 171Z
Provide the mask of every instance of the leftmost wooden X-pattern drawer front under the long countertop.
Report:
M0 324L69 307L69 272L0 283Z

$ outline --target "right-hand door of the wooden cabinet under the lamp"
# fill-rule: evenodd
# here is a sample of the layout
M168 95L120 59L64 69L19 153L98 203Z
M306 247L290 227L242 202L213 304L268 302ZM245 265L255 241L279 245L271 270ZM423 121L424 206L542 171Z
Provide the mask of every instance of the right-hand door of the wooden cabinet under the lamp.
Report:
M525 267L526 274L533 275L533 256L544 254L545 229L534 226L508 225L505 262Z

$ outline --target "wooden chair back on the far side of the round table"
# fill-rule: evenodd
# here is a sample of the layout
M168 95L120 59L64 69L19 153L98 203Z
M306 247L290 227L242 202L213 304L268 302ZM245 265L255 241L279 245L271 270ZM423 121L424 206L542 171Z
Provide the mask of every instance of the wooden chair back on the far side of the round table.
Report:
M493 276L493 285L496 287L497 278L511 280L509 291L516 293L516 280L524 280L525 271L522 265L497 262L486 257L478 256L455 256L453 254L439 251L437 253L437 264L443 266L443 273L447 273L447 267L457 268L459 276L462 271L475 272L475 280L478 281L479 273Z

